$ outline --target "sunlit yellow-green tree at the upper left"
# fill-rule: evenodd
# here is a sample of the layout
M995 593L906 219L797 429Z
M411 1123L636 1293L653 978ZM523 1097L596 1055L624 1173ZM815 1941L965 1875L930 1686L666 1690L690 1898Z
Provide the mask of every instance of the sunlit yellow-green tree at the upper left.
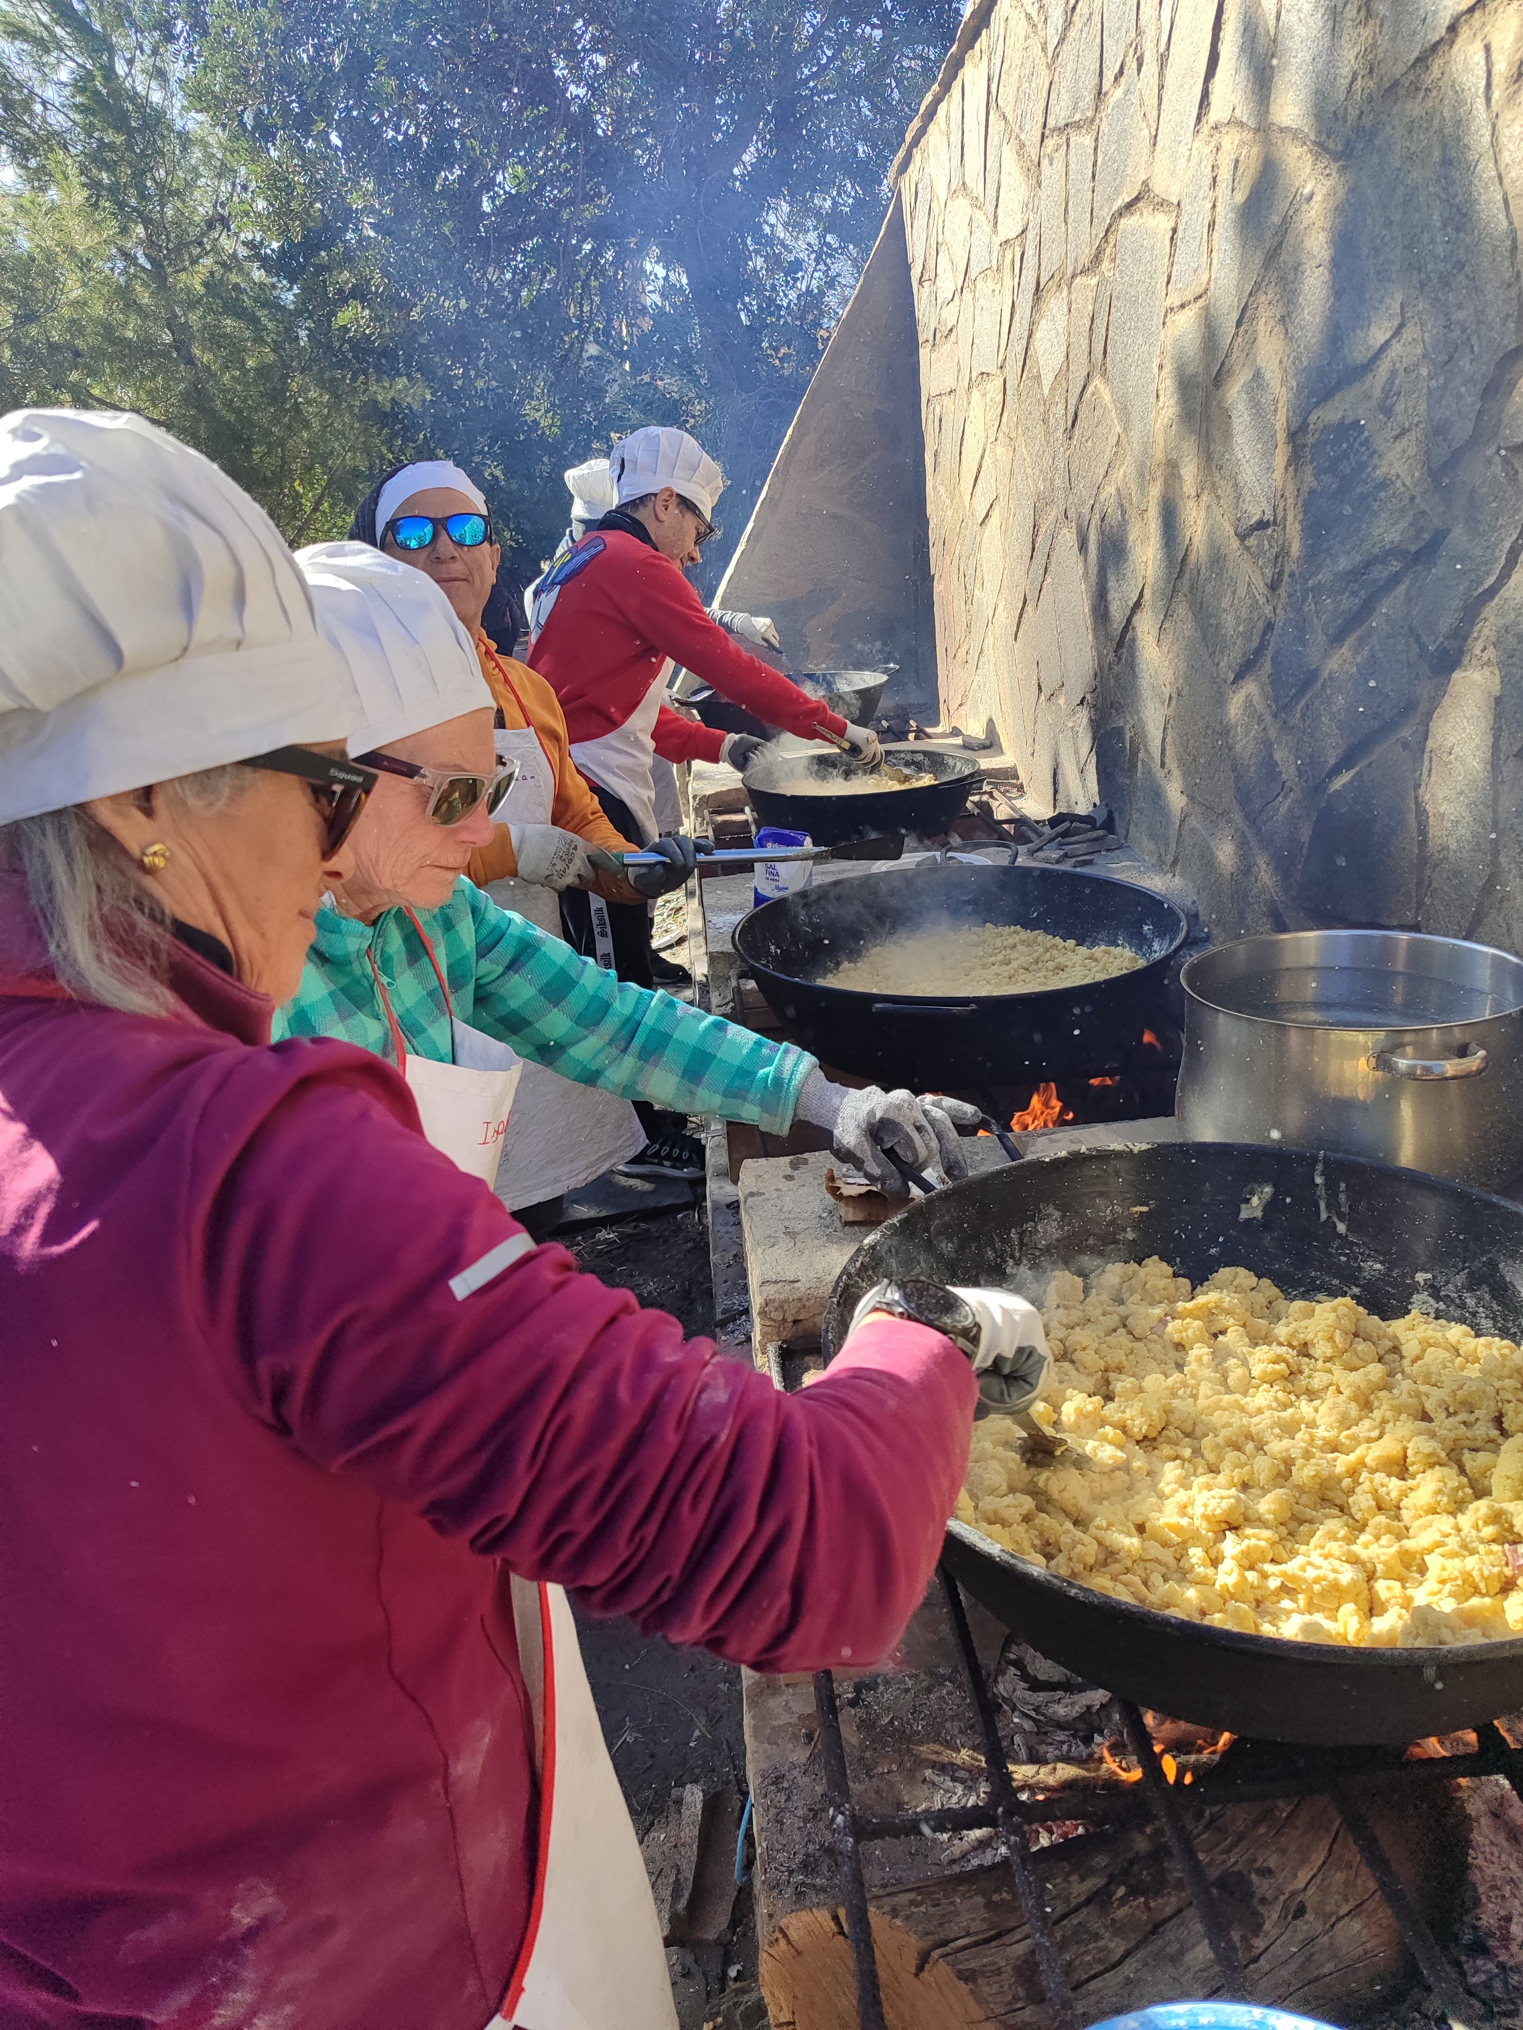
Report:
M142 410L292 542L343 534L410 390L266 270L185 61L152 0L0 0L0 408Z

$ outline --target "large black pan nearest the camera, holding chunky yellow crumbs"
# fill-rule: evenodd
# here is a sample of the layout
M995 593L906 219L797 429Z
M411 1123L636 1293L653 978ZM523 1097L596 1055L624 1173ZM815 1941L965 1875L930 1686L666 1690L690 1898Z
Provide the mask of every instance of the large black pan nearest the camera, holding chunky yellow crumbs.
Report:
M1038 1299L1054 1269L1082 1275L1147 1255L1192 1281L1243 1267L1289 1297L1346 1293L1381 1317L1432 1305L1474 1332L1523 1340L1523 1208L1354 1157L1164 1143L1017 1163L918 1200L841 1271L826 1354L887 1275ZM1523 1705L1523 1640L1379 1650L1233 1634L1058 1579L961 1522L948 1525L946 1561L1054 1663L1235 1734L1411 1742Z

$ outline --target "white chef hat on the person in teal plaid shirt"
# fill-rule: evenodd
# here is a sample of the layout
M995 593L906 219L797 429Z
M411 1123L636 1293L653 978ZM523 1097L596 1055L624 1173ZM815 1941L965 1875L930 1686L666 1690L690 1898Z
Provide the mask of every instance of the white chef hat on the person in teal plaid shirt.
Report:
M495 704L475 644L416 564L368 542L315 542L296 562L353 686L351 755Z

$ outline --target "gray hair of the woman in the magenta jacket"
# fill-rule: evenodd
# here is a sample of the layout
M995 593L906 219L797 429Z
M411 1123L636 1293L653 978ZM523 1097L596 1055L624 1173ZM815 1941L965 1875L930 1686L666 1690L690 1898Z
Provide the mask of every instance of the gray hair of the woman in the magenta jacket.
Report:
M225 808L248 771L201 769L158 788L197 812ZM26 877L53 972L77 1001L164 1015L171 920L104 824L73 804L0 826L0 861Z

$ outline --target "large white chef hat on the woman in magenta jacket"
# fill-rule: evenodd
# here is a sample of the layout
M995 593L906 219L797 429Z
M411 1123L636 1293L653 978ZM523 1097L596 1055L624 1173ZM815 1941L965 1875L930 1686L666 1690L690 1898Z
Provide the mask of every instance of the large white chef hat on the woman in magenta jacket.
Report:
M274 522L120 410L0 416L0 824L353 725Z

